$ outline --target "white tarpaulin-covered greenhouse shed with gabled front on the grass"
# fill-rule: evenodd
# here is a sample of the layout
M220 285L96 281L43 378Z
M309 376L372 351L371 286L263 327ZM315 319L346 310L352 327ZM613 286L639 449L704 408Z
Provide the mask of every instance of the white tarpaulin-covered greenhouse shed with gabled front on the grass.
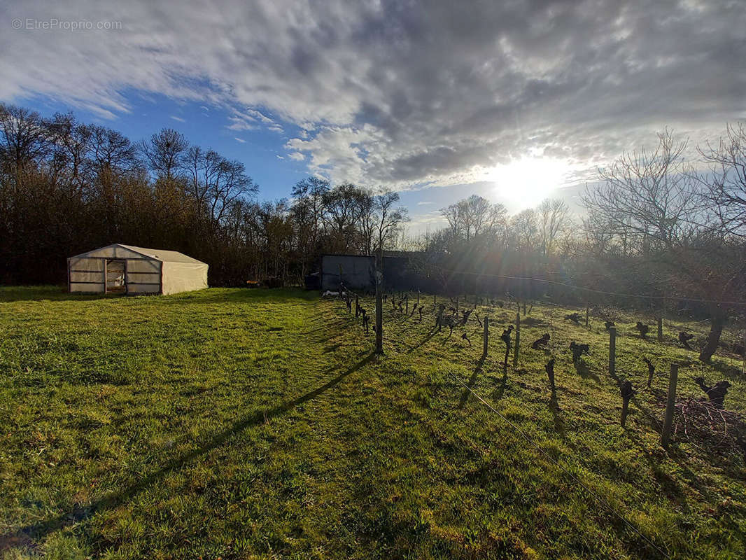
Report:
M67 264L71 292L169 294L207 287L207 264L176 251L116 243Z

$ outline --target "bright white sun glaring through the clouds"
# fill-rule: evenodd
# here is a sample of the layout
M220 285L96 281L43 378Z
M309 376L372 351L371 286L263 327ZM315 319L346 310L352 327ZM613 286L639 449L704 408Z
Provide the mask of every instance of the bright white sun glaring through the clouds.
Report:
M571 166L554 158L526 157L486 170L495 195L518 209L532 208L565 185Z

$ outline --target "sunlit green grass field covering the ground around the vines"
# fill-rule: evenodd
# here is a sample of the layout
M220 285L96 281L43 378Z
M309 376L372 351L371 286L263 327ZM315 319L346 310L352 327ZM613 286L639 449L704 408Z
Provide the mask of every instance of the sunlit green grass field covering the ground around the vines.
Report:
M692 376L728 379L727 407L746 411L739 361L698 364L673 331L641 340L640 317L618 317L618 378L641 391L622 429L598 317L585 329L563 308L534 307L518 368L503 370L514 310L480 308L494 326L480 361L477 324L448 340L431 302L424 324L384 305L378 358L372 333L316 293L0 288L0 556L663 557L554 461L671 558L746 556L743 452L680 438L665 452L652 417L667 382L643 390L639 358L662 373L689 364L683 396L703 396ZM556 398L548 353L528 346L543 332ZM590 343L581 367L570 340Z

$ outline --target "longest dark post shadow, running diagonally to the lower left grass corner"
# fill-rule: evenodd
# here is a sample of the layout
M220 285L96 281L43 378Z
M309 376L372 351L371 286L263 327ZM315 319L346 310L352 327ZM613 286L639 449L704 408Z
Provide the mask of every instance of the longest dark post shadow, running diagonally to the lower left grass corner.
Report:
M331 388L334 388L351 373L356 372L361 367L372 361L374 357L375 355L373 353L366 355L366 357L357 362L357 364L349 367L347 370L343 371L335 378L330 379L321 387L310 391L310 393L306 393L303 396L299 396L297 399L293 399L292 401L275 406L275 408L270 408L267 411L259 411L255 414L251 414L248 417L238 420L236 423L233 423L230 428L225 429L222 432L217 433L216 435L213 435L213 438L211 438L210 441L207 441L206 444L203 444L188 453L184 453L184 455L180 455L166 462L163 467L160 467L160 469L156 470L154 473L143 477L140 482L136 482L135 484L130 485L127 488L123 488L122 490L101 497L87 507L75 508L72 511L59 514L55 517L51 517L50 519L38 521L37 523L32 523L31 525L22 527L15 533L0 535L0 543L12 542L14 539L17 538L33 538L35 541L40 541L40 539L45 538L46 536L51 534L51 532L57 531L58 529L64 529L66 526L70 526L78 523L79 521L85 520L97 511L104 511L107 509L119 507L119 505L122 505L122 503L130 500L137 494L140 494L140 492L145 490L145 488L154 485L156 482L160 481L160 479L163 479L163 477L165 477L169 473L172 473L175 470L184 467L185 464L194 461L201 455L205 455L213 449L216 449L216 447L220 447L222 444L225 444L226 441L228 441L239 432L243 432L245 429L265 423L266 420L270 420L274 417L280 416L280 414L284 414L285 412L290 411L292 408L303 405L304 403L315 399L317 396L325 393Z

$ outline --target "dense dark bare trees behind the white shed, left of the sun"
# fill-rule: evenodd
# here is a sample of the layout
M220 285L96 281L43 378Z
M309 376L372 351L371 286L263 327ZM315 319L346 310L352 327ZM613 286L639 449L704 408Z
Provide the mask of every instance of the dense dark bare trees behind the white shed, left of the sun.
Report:
M133 142L72 113L0 105L0 282L60 284L66 257L111 243L184 252L210 264L213 285L298 281L323 252L392 243L406 217L396 193L317 177L292 199L257 193L241 162L170 128Z

